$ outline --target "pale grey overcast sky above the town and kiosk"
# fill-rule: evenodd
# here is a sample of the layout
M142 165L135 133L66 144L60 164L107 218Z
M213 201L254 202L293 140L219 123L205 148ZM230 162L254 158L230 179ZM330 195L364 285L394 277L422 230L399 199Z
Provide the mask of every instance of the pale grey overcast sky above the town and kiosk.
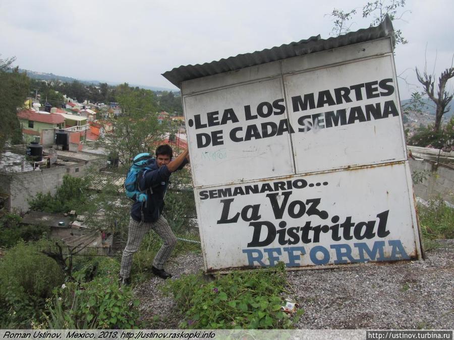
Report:
M162 73L317 34L327 39L333 8L361 13L366 2L2 0L0 54L37 72L176 89ZM409 41L396 47L395 64L398 75L417 85L414 69L424 69L425 59L432 73L436 58L437 78L451 65L454 1L407 3L404 20L393 23ZM351 30L370 22L357 15ZM414 90L400 82L401 99Z

